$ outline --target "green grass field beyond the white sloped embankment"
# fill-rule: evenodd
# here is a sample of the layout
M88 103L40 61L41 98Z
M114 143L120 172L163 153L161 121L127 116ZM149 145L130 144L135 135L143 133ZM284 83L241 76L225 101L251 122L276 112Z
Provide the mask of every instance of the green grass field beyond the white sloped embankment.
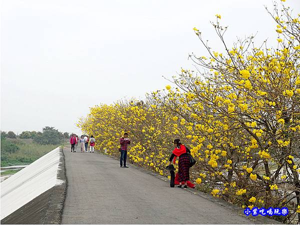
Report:
M1 166L30 164L58 146L53 144L41 145L34 143L32 139L17 138L6 139L5 141L15 144L19 149L16 152L5 153L4 157L1 154ZM2 150L4 151L5 149L2 149L1 143Z

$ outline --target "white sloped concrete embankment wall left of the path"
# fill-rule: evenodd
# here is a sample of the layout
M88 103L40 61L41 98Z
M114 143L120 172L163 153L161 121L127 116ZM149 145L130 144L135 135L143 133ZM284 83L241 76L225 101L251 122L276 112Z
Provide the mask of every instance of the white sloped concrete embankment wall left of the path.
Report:
M56 177L61 157L57 147L1 182L1 219L63 182Z

